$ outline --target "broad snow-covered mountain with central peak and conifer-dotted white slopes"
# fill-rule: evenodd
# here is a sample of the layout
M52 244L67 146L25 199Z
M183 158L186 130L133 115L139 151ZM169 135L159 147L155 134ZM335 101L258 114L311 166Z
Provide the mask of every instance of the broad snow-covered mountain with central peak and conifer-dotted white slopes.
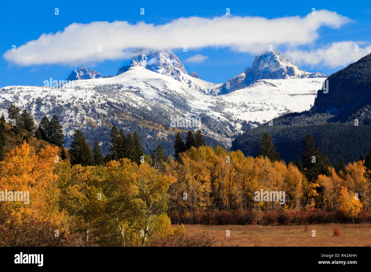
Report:
M259 63L264 66L263 62ZM103 152L108 151L110 124L137 131L144 151L151 152L158 143L172 148L169 139L174 137L171 122L175 117L195 118L200 121L197 127L207 138L230 146L235 135L261 122L311 108L316 91L325 80L310 77L310 73L300 69L292 74L286 68L288 77L256 79L248 87L241 85L238 90L220 94L221 83L200 80L196 74L188 75L179 58L169 51L142 54L130 65L121 68L125 72L105 78L82 67L76 71L76 80L59 88L1 88L0 115L7 116L10 103L29 111L36 123L45 115L56 114L63 125L66 147L72 134L80 129L85 131L89 144L95 138L103 142ZM84 77L88 79L82 79ZM187 131L197 127L180 125L177 128Z

